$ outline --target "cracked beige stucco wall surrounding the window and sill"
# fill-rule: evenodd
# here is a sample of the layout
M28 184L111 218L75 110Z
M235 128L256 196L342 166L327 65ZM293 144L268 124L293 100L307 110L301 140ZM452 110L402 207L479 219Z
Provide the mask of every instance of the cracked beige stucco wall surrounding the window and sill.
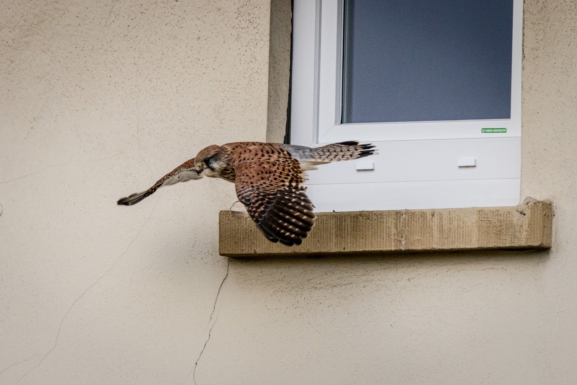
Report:
M550 252L232 260L220 287L233 185L115 200L265 139L267 0L1 0L0 384L576 383L577 9L524 8Z

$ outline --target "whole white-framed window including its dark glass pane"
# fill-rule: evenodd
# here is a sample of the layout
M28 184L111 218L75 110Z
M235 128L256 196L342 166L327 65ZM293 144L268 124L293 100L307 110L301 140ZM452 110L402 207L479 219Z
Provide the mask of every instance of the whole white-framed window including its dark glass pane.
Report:
M380 152L311 172L317 210L517 204L521 23L520 0L294 0L291 143Z

